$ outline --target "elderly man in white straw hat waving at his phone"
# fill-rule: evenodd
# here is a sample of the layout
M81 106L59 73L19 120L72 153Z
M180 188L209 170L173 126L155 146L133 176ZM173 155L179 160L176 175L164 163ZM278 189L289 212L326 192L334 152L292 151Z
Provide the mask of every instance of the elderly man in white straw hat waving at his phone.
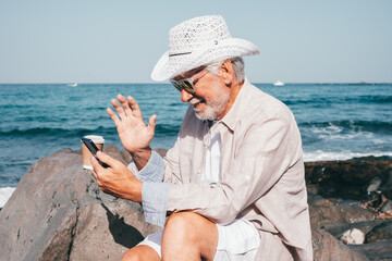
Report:
M108 109L130 166L99 152L100 189L142 202L162 226L123 260L313 260L301 135L283 103L248 83L242 57L219 15L185 21L169 34L155 80L170 79L189 108L164 159L151 151L148 125L132 97ZM168 217L167 217L168 216Z

